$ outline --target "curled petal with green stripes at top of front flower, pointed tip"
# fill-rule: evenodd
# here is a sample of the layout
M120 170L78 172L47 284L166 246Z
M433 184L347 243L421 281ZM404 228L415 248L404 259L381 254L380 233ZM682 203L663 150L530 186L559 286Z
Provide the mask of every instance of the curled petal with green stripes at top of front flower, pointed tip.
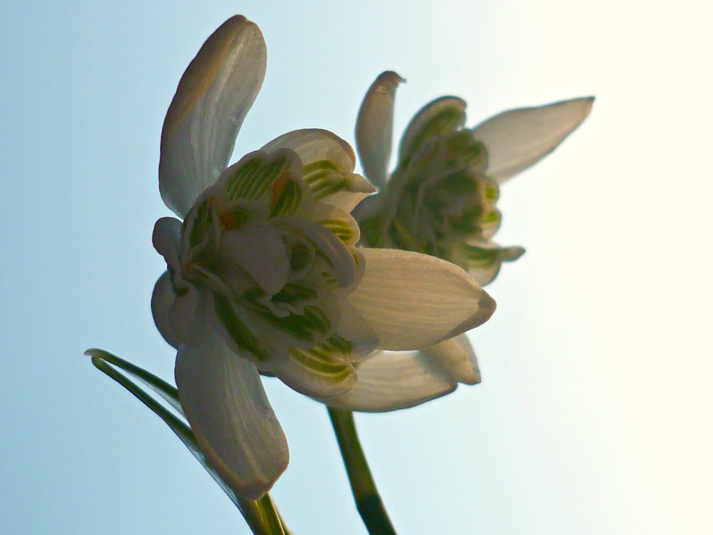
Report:
M278 148L297 152L304 165L304 181L317 201L351 212L361 199L376 192L364 177L354 174L356 157L349 143L329 130L293 130L261 150L272 152Z

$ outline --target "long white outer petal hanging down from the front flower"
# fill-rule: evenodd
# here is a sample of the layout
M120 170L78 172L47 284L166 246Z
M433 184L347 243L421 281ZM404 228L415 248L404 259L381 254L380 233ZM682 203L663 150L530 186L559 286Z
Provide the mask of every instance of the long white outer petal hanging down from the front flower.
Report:
M260 375L214 331L180 345L178 398L208 463L240 497L258 499L287 468L289 452Z

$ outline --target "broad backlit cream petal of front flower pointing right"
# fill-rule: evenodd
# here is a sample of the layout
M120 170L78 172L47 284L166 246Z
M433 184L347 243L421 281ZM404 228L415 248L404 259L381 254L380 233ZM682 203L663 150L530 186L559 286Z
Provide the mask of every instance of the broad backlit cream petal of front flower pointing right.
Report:
M349 301L379 348L420 349L481 325L495 301L463 269L412 251L359 249L366 269Z

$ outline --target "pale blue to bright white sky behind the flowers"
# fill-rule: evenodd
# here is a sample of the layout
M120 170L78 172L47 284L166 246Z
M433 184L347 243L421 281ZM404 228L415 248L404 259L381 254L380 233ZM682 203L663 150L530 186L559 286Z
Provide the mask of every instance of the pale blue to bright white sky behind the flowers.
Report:
M302 4L302 5L300 5ZM178 79L235 13L269 50L236 157L294 128L353 141L381 71L396 128L455 94L469 125L596 95L502 189L527 253L473 333L483 383L357 425L401 535L713 533L711 14L699 0L0 6L0 526L4 534L247 534L160 420L94 370L170 378L148 302L165 268L158 142ZM324 407L268 380L296 534L364 534Z

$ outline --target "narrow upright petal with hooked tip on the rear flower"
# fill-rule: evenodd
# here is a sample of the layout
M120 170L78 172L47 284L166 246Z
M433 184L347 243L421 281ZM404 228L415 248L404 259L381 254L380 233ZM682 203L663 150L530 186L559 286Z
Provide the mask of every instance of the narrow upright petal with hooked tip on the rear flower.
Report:
M366 92L356 118L356 150L364 174L378 188L386 184L394 129L394 95L405 82L394 71L381 73Z

